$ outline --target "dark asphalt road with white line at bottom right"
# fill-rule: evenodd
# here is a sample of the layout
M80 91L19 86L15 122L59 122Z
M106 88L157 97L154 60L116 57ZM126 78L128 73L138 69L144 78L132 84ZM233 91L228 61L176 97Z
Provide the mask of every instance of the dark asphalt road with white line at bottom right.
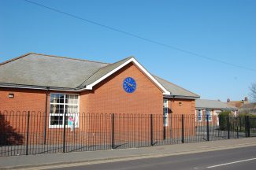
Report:
M56 169L86 169L86 170L255 170L256 146L244 147L232 150L219 150L206 153L191 153L170 157L156 157L135 161L119 161L104 164L89 164L70 168Z

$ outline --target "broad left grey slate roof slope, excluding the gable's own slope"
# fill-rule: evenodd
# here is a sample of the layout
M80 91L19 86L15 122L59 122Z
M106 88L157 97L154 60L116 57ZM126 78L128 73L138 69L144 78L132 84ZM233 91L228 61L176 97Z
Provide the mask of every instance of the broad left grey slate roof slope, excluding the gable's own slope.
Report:
M0 83L76 88L106 63L28 54L0 65Z

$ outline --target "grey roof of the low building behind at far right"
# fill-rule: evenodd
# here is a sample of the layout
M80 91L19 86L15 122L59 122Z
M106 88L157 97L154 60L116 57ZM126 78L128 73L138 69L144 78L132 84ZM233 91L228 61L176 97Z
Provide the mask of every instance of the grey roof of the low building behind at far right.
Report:
M234 106L227 105L225 102L220 102L217 100L208 100L208 99L196 99L195 108L197 109L235 109L238 108Z

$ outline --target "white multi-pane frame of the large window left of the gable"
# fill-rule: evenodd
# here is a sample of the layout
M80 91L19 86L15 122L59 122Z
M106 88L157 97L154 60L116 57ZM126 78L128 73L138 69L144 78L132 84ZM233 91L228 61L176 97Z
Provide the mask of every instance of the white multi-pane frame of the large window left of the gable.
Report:
M50 93L50 95L51 94L63 94L64 95L64 103L51 103L51 102L49 102L49 128L63 128L64 127L64 121L65 121L65 119L64 119L64 115L65 115L65 105L77 105L77 113L75 113L75 114L77 114L76 115L76 117L78 117L78 119L80 118L80 113L79 113L79 110L80 110L80 95L79 94L67 94L67 93ZM65 103L65 99L66 99L66 95L76 95L78 98L77 98L77 104L66 104ZM49 98L50 99L50 98ZM61 113L50 113L50 105L51 104L55 104L55 105L64 105L64 113L63 114L61 114ZM74 115L74 113L66 113L66 116L73 116ZM51 125L50 124L50 116L63 116L63 124L62 125ZM78 120L78 122L77 122L77 125L76 125L76 127L79 127L79 121L80 120ZM69 124L66 124L66 127L69 127L69 128L72 128L72 126L70 126Z

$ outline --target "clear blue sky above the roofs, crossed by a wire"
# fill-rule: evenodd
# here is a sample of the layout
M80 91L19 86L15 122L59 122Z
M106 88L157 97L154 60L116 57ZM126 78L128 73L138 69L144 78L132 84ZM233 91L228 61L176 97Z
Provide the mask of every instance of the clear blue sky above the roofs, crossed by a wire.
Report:
M31 0L206 57L256 69L254 0ZM195 57L55 13L0 0L0 62L28 52L115 62L136 59L154 75L226 101L248 96L256 72Z

